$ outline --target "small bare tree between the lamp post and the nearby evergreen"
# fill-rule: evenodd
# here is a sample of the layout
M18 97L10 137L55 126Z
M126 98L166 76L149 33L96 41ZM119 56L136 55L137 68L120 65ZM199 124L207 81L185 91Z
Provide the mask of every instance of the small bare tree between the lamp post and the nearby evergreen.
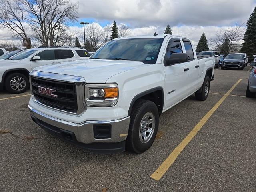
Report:
M94 52L102 46L102 34L102 28L98 23L89 24L85 28L86 38L89 40Z

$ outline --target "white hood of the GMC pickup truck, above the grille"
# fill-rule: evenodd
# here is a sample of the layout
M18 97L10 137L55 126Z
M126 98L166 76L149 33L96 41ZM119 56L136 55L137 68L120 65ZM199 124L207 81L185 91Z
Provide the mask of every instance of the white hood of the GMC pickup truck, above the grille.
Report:
M88 59L49 64L34 70L80 76L88 83L104 83L111 76L143 65L140 61Z

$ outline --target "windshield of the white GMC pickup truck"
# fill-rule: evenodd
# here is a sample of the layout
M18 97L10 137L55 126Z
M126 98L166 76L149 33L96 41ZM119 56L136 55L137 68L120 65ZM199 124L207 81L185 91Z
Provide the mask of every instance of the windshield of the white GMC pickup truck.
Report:
M156 63L163 38L134 38L112 40L90 59L132 60Z

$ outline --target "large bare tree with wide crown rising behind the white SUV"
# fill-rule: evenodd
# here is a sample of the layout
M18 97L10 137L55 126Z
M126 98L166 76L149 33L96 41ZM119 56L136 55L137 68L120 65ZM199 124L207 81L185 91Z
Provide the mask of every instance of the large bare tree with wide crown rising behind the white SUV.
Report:
M67 0L19 0L36 38L44 46L53 46L58 42L60 33L67 24L77 20L78 4Z

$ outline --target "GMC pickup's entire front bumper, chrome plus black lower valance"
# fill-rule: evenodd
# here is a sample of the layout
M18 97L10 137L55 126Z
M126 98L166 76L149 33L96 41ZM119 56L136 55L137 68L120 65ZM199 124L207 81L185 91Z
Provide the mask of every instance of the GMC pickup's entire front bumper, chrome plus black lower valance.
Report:
M125 150L125 140L128 134L130 117L119 120L86 121L80 124L60 120L28 106L31 118L46 132L84 148L86 151L108 153ZM97 138L95 127L108 126L110 136Z

